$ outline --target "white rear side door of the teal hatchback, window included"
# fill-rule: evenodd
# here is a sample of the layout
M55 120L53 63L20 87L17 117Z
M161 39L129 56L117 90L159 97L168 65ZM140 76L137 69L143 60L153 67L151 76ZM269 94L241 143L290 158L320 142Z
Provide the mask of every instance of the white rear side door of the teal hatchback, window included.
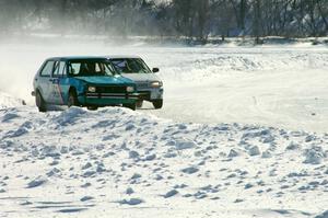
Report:
M52 85L52 78L51 73L54 70L54 60L48 60L38 77L38 90L44 99L45 102L51 102L51 85Z

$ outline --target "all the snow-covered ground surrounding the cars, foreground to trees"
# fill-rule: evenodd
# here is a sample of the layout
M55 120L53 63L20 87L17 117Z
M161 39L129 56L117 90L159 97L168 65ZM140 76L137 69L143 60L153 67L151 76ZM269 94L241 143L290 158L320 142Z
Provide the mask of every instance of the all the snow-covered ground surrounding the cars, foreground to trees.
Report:
M0 47L0 217L327 218L327 47ZM164 108L38 113L42 61L91 54L160 67Z

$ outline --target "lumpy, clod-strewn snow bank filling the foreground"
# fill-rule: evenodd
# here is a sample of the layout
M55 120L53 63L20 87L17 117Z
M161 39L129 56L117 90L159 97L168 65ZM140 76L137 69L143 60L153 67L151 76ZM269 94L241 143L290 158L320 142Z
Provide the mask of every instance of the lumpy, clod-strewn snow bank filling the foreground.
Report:
M298 218L327 207L325 134L119 107L8 108L0 123L0 211L13 217L121 217L128 207L133 217Z

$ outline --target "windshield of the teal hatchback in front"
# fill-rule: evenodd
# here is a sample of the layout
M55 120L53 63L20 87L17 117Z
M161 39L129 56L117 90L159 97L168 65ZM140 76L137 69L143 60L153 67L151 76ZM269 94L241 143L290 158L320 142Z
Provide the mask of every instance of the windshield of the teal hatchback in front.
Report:
M106 60L71 60L68 64L72 77L114 76L115 68Z

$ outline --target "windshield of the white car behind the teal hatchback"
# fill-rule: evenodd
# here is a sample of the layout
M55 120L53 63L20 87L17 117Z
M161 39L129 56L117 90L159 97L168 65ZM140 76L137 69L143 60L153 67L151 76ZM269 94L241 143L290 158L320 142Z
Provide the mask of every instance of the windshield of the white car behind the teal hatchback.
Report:
M113 58L115 69L120 73L151 73L152 71L140 58Z

